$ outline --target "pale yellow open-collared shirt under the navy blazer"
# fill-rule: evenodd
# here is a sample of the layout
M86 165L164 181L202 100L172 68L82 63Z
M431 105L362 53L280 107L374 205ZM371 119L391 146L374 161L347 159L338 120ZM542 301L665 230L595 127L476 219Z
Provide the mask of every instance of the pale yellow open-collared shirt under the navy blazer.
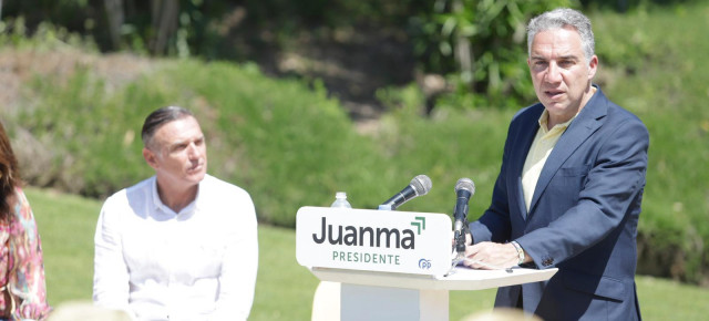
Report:
M542 116L540 116L540 130L536 132L536 136L534 136L534 142L532 143L527 159L524 162L524 168L522 169L522 189L524 191L524 204L527 210L530 210L536 182L540 179L540 174L542 174L546 158L552 154L558 138L562 137L562 134L566 132L568 125L576 118L576 116L574 116L568 120L568 122L557 124L552 130L547 130L548 115L548 112L544 110Z

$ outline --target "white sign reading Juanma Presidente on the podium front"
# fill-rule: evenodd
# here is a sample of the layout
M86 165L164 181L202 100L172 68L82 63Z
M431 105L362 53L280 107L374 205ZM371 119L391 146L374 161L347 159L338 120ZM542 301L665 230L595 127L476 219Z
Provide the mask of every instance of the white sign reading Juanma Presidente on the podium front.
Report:
M451 240L444 214L301 207L296 217L296 258L307 267L444 275Z

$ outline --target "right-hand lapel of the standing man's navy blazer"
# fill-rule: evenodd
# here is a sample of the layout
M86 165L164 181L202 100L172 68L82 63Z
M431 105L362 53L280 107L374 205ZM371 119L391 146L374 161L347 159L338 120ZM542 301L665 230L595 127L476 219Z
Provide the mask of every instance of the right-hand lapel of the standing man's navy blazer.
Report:
M594 94L594 96L588 101L586 106L580 113L578 113L576 118L558 139L556 146L554 146L554 149L552 151L552 154L549 154L549 157L546 159L544 168L542 168L542 173L540 174L540 179L536 183L534 196L530 204L530 214L534 213L534 208L540 200L540 197L548 186L552 177L554 177L556 172L558 172L562 165L564 165L566 159L568 159L578 146L588 139L590 134L600 127L603 124L600 120L606 115L608 110L607 102L608 100L603 92L600 92L600 89L598 89L596 94Z

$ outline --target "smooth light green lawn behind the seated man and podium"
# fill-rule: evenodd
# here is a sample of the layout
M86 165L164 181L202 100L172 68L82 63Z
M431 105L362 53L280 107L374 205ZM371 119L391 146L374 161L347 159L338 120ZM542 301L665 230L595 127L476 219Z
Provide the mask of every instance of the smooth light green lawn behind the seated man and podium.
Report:
M101 201L27 188L42 238L50 304L91 300L93 234ZM294 209L294 214L296 209ZM296 262L295 231L259 227L259 271L250 320L309 320L318 280ZM706 320L709 289L637 277L646 320ZM490 309L494 290L452 291L451 320Z

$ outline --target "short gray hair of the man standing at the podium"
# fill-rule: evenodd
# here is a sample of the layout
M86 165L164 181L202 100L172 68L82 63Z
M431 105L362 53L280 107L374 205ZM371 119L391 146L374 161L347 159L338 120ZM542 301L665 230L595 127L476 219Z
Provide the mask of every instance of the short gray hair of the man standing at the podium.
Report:
M584 13L568 8L544 12L530 21L530 24L527 24L527 54L532 55L532 41L537 33L565 27L576 29L576 32L580 35L580 44L586 62L590 62L590 58L594 56L596 50L590 20Z

